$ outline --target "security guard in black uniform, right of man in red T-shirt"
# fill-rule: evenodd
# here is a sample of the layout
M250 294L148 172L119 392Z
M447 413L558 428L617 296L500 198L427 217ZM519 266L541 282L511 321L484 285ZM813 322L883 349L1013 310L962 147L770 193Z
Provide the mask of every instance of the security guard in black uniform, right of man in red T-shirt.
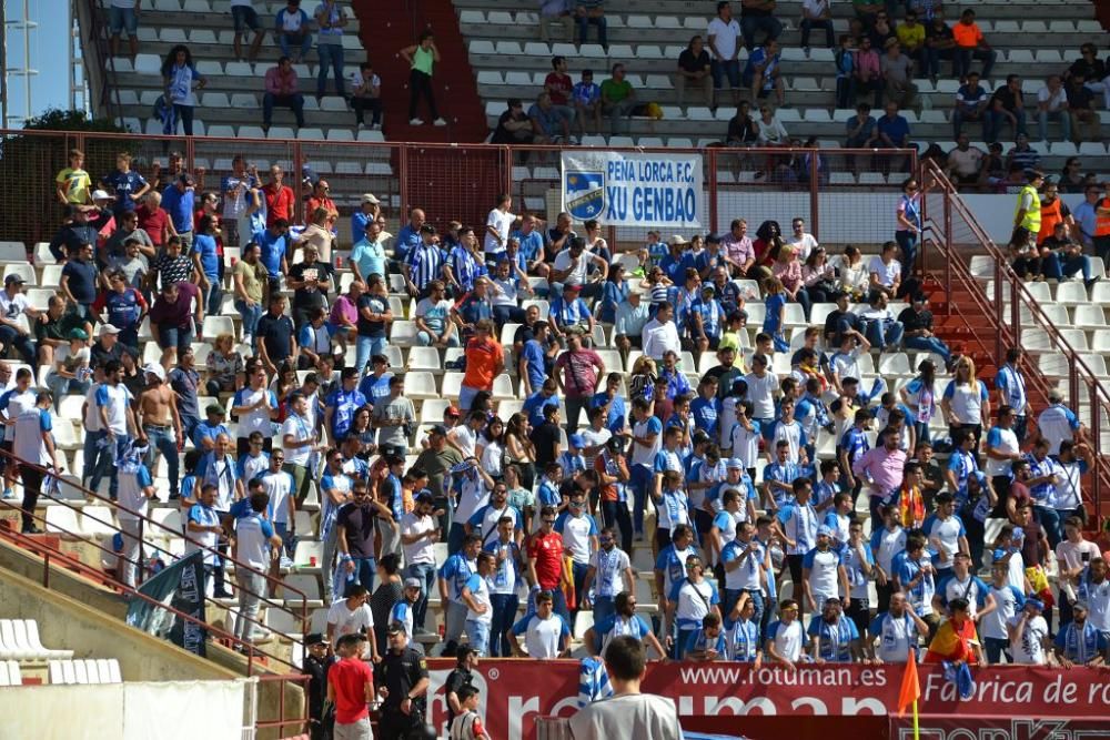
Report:
M386 628L390 649L377 665L374 682L382 697L380 740L414 740L426 737L427 661L408 647L403 624ZM433 736L434 737L434 736Z

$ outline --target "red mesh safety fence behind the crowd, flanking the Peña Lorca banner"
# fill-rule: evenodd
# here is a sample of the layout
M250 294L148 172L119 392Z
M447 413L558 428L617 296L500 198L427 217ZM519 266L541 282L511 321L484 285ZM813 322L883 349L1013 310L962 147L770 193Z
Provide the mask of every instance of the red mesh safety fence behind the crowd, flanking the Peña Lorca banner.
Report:
M561 207L559 152L556 146L340 142L215 136L150 136L91 132L0 131L0 240L27 244L49 241L63 213L54 195L54 176L67 166L67 153L85 153L84 169L99 180L115 168L115 154L132 155L132 169L164 187L174 171L170 160L193 173L198 190L220 190L231 161L242 154L263 180L271 165L285 172L294 190L297 219L307 197L304 178L322 178L343 216L341 240L350 244L346 216L364 193L381 201L393 233L411 207L423 209L441 230L450 221L481 227L501 193L513 195L514 212L554 219ZM582 151L581 149L578 151ZM901 181L917 168L916 150L845 150L816 148L620 149L612 151L699 154L708 220L703 232L726 231L745 216L751 232L764 220L789 224L803 216L820 239L821 229L855 232L858 242L889 237L894 202ZM874 227L850 209L834 203L837 193L889 193L888 217ZM880 225L881 224L881 225ZM623 233L639 240L644 230ZM617 234L610 232L616 244Z

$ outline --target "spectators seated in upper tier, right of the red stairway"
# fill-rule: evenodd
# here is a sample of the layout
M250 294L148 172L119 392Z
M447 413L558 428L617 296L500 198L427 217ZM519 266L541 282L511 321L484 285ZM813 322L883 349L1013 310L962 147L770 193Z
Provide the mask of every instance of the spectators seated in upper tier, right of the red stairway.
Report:
M589 3L589 14L574 10L565 0L544 3L542 19L561 17L578 21L576 41L586 42L585 20L601 22L604 29L603 2ZM581 3L579 3L581 4ZM565 6L565 7L564 7ZM834 42L833 7L827 0L810 0L803 4L800 21L801 45L809 53L811 32L823 30L826 45L834 50L836 103L838 110L856 108L857 116L845 121L845 145L851 149L895 149L907 145L929 145L911 135L910 124L899 113L905 109L922 110L915 80L936 83L942 71L946 79L958 80L960 87L951 103L949 119L952 139L959 146L951 152L930 151L937 159L946 155L958 173L961 185L998 191L1008 179L1020 186L1022 169L1036 166L1036 161L1015 163L1015 152L1029 151L1029 130L1037 123L1036 141L1049 140L1049 122L1060 126L1060 139L1101 141L1099 115L1096 110L1099 93L1106 100L1107 70L1098 59L1094 44L1082 44L1079 59L1066 70L1045 77L1036 97L1023 93L1023 81L1017 74L1007 75L992 91L985 87L997 59L997 51L983 37L976 22L976 11L963 10L953 23L945 20L940 3L907 3L902 18L891 16L886 3L852 3L849 32ZM542 22L546 28L546 21ZM673 75L679 105L689 102L689 94L712 111L726 104L737 109L728 122L722 141L729 146L800 145L791 138L776 115L776 107L786 103L784 60L778 38L783 22L776 18L773 2L745 1L737 21L733 3L717 3L717 17L708 23L705 34L690 38L676 60ZM758 41L758 43L757 43ZM604 44L604 34L601 41ZM747 50L745 60L741 51ZM950 62L942 68L941 62ZM975 69L981 62L981 71ZM627 80L625 64L615 63L609 78L594 82L594 70L584 69L578 81L567 73L563 57L552 60L553 71L544 89L527 107L521 98L508 101L494 130L495 143L576 143L588 133L603 134L602 116L609 119L608 132L625 133L632 116L657 118L649 108L644 91L637 91ZM696 90L695 90L696 89ZM728 95L726 97L726 92ZM1035 98L1035 99L1033 99ZM1031 99L1031 100L1030 100ZM798 104L800 101L793 101ZM1110 103L1107 103L1110 107ZM885 115L872 115L884 111ZM966 124L979 124L981 141L989 152L970 146L963 136ZM1002 156L1003 134L1017 142ZM958 153L957 153L958 152ZM1020 156L1018 158L1020 160ZM1074 173L1072 173L1074 174Z

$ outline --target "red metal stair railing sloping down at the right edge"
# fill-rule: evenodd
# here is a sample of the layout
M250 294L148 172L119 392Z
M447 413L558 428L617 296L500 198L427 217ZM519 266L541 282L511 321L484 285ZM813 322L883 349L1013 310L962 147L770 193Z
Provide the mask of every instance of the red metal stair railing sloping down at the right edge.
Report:
M960 199L955 185L949 182L944 172L931 161L925 161L920 168L920 180L928 237L926 251L931 247L939 253L939 257L944 261L942 275L934 274L940 280L949 295L951 295L953 286L962 288L975 302L975 308L978 313L985 316L993 328L991 337L976 336L973 342L1001 362L1008 347L1021 346L1021 335L1025 328L1022 312L1028 312L1030 317L1028 324L1042 330L1052 346L1067 359L1069 371L1064 381L1064 391L1070 401L1069 406L1076 410L1080 418L1084 417L1083 404L1088 406L1086 415L1089 418L1093 469L1090 472L1089 485L1083 486L1083 494L1094 514L1093 521L1101 529L1103 520L1108 516L1104 510L1104 505L1108 501L1102 500L1102 491L1110 490L1110 462L1104 457L1106 453L1110 450L1103 448L1102 439L1103 429L1110 419L1110 392L1046 315L1022 280L1013 272L1009 259L982 231L975 215ZM959 229L953 225L957 223ZM972 251L977 255L986 255L991 260L992 295L987 295L987 292L971 273L967 255ZM960 307L953 303L949 301L949 307L959 312ZM1029 389L1042 396L1047 396L1052 389L1053 384L1041 373L1040 367L1036 365L1029 353L1023 356L1021 369Z

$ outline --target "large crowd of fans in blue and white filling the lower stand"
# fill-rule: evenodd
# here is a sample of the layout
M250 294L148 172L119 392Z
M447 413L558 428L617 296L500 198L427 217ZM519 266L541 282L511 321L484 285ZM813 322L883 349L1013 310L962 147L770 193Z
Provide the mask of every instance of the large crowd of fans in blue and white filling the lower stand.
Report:
M481 227L440 233L413 209L393 234L369 193L341 253L324 180L302 229L280 168L263 182L236 156L205 191L180 159L149 179L125 153L117 164L94 185L73 151L58 175L69 215L49 305L30 306L19 274L4 281L0 341L52 363L52 393L9 371L13 450L60 465L48 409L83 394L83 481L108 478L148 516L164 456L186 533L262 569L293 565L297 513L319 496L301 535L321 540L327 640L366 628L367 655L383 655L373 625L396 621L414 645L440 642L437 592L448 655L465 633L480 655L565 656L588 611L592 653L634 635L657 657L889 662L947 629L932 649L952 659L1102 659L1110 581L1082 535L1086 429L1059 396L1031 408L1020 348L991 388L935 334L915 180L869 260L855 246L830 260L800 217L789 233L768 221L753 239L737 219L615 249L597 223L579 235L568 214L547 224L508 195ZM202 333L229 313L241 342ZM147 322L161 355L140 366ZM462 371L442 418L416 413L397 343ZM906 351L911 381L875 376ZM41 479L22 483L33 533ZM637 547L655 562L647 589ZM205 561L228 596L222 562ZM239 577L236 633L251 640L265 585ZM960 652L965 619L986 655Z

